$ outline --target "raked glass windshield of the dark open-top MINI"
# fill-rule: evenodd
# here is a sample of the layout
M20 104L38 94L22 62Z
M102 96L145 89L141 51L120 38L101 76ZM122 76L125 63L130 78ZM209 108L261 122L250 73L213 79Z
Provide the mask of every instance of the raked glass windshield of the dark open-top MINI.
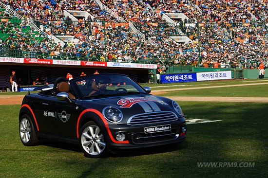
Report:
M71 80L82 98L139 94L146 91L136 82L120 74L96 74Z

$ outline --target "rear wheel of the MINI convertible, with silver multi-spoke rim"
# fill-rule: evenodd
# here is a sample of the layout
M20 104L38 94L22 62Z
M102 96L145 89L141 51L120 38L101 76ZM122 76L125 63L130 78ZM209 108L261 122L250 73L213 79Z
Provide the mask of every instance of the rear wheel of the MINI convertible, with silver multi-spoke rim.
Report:
M19 137L25 146L34 146L39 143L33 122L27 114L19 119Z

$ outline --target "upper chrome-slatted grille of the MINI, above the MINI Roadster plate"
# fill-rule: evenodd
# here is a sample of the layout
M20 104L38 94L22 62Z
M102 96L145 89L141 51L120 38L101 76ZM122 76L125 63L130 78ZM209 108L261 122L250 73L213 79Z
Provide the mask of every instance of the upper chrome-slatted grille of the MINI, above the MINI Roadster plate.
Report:
M146 125L163 122L176 121L177 117L173 112L150 112L138 114L128 120L129 125Z

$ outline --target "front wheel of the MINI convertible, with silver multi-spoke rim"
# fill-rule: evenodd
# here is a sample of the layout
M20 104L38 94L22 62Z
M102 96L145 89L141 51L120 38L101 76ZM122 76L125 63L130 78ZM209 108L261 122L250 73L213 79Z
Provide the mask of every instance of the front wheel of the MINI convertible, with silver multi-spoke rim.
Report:
M95 122L90 121L83 125L79 136L79 145L85 157L103 158L108 156L107 139Z

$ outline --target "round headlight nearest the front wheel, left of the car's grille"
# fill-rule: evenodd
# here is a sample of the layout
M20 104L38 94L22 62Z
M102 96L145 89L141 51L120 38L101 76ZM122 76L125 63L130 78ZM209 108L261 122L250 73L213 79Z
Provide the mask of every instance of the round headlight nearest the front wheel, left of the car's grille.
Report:
M105 119L112 123L118 123L123 119L122 112L116 107L105 107L102 111Z

